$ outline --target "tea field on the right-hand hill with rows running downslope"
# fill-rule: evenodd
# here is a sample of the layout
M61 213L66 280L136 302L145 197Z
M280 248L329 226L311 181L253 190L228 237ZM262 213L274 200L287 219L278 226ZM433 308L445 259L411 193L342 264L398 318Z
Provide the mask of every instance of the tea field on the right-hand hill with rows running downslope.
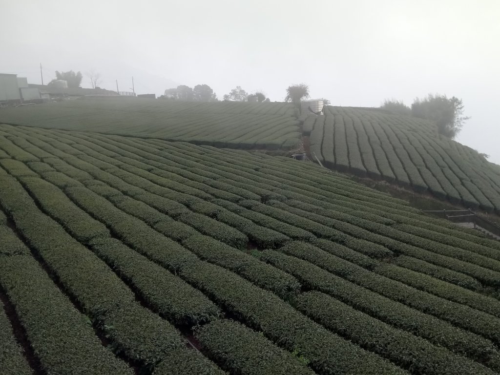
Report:
M383 178L416 191L500 210L500 169L475 150L439 135L430 122L370 108L325 108L303 131L328 167Z

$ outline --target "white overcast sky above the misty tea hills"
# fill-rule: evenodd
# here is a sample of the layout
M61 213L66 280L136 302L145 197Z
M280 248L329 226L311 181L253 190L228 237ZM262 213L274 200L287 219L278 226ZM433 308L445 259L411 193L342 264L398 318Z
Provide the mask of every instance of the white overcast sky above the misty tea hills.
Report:
M333 105L457 96L456 140L500 163L499 0L0 0L0 72L40 83L93 69L103 88L293 83ZM83 87L90 87L84 75Z

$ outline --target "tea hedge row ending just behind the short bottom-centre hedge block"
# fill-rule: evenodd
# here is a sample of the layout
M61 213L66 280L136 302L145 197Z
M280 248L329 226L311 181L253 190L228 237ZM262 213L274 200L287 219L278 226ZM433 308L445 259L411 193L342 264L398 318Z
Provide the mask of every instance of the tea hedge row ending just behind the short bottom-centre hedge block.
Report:
M56 186L34 177L20 179L44 210L60 221L77 240L91 244L92 249L132 283L135 290L163 316L176 324L192 324L218 315L217 308L197 290L110 238L102 223L78 208ZM100 230L94 230L95 227ZM165 286L164 291L161 291L161 285Z

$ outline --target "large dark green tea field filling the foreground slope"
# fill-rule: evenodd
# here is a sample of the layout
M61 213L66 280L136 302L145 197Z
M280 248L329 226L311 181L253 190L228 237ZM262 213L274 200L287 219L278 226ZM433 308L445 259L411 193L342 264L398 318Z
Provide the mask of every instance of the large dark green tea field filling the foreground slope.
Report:
M2 375L500 371L500 243L311 163L4 124L0 237Z

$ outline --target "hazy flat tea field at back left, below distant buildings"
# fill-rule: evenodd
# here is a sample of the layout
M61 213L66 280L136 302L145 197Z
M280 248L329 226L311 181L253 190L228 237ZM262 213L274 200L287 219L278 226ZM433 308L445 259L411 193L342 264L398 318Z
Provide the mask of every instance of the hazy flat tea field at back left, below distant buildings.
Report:
M300 139L300 123L287 103L82 97L3 108L0 121L231 148L289 148Z

